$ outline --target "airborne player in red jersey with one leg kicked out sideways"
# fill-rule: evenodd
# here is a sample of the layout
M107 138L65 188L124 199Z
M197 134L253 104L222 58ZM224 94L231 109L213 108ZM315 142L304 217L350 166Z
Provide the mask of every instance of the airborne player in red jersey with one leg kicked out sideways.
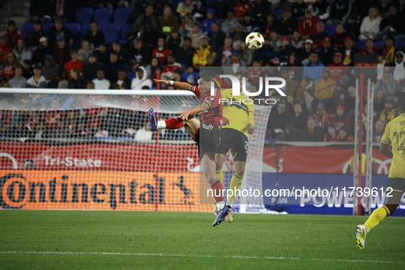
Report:
M198 86L192 86L186 82L155 79L155 82L162 82L163 84L173 85L175 88L190 90L199 97L201 103L191 110L180 112L179 117L165 121L158 121L154 110L151 109L149 110L149 118L151 119L149 129L151 131L163 129L177 130L184 126L191 136L193 136L193 140L199 145L198 151L201 167L210 183L217 205L217 219L212 224L213 226L217 226L228 216L230 208L225 206L225 202L223 201L223 185L219 181L219 177L217 177L215 165L215 154L217 154L219 147L219 130L223 121L222 103L220 103L221 90L215 88L213 95L211 95L211 81L211 77L204 74L199 75ZM193 114L199 114L200 120L192 116Z

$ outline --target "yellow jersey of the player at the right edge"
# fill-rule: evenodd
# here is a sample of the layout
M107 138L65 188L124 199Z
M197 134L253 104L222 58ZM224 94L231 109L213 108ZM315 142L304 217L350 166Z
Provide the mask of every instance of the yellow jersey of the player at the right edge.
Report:
M388 177L405 179L405 114L386 124L381 142L393 147L393 161Z

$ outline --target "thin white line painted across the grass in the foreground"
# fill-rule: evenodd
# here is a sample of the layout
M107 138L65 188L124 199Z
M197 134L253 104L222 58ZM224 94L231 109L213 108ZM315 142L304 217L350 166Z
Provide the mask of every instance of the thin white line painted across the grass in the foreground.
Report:
M212 255L186 255L186 254L159 254L159 253L119 253L119 252L55 252L55 251L0 251L0 254L54 254L54 255L115 255L115 256L159 256L184 258L243 258L262 260L313 260L323 262L370 262L405 265L405 262L391 262L386 260L339 260L319 258L293 258L293 257L258 257L258 256L212 256Z

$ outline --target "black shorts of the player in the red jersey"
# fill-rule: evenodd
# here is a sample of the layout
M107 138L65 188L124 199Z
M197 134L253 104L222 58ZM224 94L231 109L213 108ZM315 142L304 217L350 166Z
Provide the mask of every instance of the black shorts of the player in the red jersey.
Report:
M218 127L201 123L193 140L198 144L199 159L201 160L204 155L208 155L215 162L220 141Z

